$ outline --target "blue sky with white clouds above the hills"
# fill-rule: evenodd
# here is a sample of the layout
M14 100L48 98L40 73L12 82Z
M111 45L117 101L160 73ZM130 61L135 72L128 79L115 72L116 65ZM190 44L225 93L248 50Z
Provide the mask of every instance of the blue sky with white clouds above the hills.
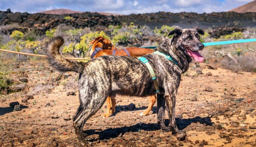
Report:
M138 14L151 12L223 12L253 0L0 0L0 10L36 13L52 9Z

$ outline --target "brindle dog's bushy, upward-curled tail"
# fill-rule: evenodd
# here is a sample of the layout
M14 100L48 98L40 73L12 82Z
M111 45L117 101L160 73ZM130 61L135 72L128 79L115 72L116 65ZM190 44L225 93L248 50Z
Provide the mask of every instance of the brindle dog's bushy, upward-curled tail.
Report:
M46 43L44 48L45 54L48 56L47 60L51 66L61 72L75 71L82 73L86 63L74 62L63 58L59 53L59 48L64 44L64 39L61 36L53 37Z

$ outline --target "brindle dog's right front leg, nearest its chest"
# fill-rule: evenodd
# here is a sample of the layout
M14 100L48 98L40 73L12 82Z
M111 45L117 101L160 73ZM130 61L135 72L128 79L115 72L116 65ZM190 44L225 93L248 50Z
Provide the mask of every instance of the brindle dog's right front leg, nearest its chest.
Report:
M169 116L169 127L171 128L172 134L175 135L179 131L175 121L176 94L171 93L171 95L165 95L164 98L166 101L166 108Z

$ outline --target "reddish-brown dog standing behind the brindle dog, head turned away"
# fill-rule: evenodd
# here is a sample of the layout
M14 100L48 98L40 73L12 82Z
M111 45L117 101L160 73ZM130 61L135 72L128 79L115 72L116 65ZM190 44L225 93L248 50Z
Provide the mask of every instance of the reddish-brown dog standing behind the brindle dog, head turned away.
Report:
M116 50L117 48L114 45L112 45L108 39L101 36L97 37L90 43L93 44L92 49L90 51L90 55L93 54L96 48L102 48L102 50L98 51L93 57L91 56L92 58L96 58L103 55L112 55L114 50L115 50L115 55L128 56L128 54L130 54L130 56L133 56L133 57L139 57L139 56L143 56L143 55L154 52L149 48L128 47L126 48L126 50L129 52L127 54L123 49ZM155 101L156 101L155 95L149 96L148 108L144 112L142 112L140 116L148 115L149 112L152 111ZM107 113L103 114L103 117L110 117L111 114L115 113L116 100L115 98L108 97L106 100L106 103L107 103Z

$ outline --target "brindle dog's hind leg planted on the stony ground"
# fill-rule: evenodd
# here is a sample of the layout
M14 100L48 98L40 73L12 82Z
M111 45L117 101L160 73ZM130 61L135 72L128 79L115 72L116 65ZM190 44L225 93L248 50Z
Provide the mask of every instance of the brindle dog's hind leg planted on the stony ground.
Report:
M76 114L73 116L73 126L82 146L87 144L87 141L85 141L86 134L83 133L84 124L102 107L107 96L108 94L106 92L98 91L98 93L92 97L80 97L82 101L80 102L80 106Z

